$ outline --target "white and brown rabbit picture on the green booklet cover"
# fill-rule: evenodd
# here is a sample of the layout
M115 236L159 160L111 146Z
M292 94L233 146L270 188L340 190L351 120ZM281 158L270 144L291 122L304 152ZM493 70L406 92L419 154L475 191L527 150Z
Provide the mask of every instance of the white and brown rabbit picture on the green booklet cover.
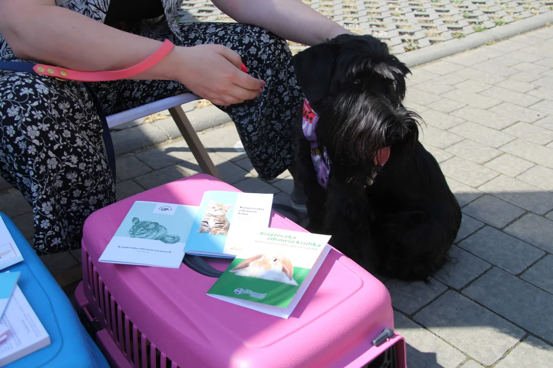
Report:
M294 280L294 266L290 259L276 254L257 254L244 259L230 272L238 276L283 282L284 284L298 286Z

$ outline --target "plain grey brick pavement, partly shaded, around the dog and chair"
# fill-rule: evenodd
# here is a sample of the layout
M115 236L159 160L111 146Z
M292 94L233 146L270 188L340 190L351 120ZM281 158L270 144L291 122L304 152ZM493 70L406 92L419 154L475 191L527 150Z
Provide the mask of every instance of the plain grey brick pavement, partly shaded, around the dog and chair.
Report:
M386 280L410 367L545 368L553 361L553 27L414 68L407 105L462 206L453 263L430 284ZM290 204L233 148L232 123L199 137L228 183ZM200 171L182 139L118 158L117 198ZM0 210L32 238L32 213L0 181ZM290 215L290 214L284 214ZM290 217L293 218L293 217ZM80 251L42 257L71 294Z

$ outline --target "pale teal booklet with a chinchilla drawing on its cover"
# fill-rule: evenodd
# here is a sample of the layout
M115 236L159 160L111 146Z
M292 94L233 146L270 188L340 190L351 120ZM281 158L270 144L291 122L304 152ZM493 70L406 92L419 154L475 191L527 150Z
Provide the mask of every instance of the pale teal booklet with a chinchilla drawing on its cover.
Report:
M135 201L100 262L179 268L197 206Z

